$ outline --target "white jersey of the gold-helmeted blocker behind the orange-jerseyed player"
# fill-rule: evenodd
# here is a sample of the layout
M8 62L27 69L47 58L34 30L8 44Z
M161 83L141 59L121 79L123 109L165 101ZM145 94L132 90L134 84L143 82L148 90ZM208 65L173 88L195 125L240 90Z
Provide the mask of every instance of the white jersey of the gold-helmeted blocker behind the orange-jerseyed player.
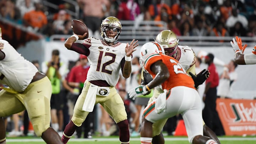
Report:
M178 46L176 50L177 56L175 59L178 60L186 71L196 63L196 54L191 47Z

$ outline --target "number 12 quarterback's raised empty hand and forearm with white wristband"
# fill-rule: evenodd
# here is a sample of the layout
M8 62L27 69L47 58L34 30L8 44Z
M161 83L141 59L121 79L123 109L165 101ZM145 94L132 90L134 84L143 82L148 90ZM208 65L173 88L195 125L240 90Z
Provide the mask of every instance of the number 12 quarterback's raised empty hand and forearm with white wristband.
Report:
M122 70L122 74L124 78L129 78L130 73L132 71L132 65L131 65L131 60L132 60L132 53L136 50L135 48L137 46L139 46L138 41L135 41L135 39L132 40L132 42L130 43L130 45L127 43L126 44L126 48L125 48L125 52L126 55L124 57L125 62L124 62L124 67Z

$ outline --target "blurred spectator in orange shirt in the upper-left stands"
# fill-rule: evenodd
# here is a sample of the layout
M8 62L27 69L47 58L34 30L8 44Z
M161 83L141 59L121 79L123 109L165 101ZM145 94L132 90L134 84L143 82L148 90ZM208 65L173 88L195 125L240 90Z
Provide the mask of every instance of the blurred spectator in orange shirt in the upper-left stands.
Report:
M34 31L40 31L47 25L47 17L42 11L42 4L40 2L35 3L35 10L27 12L23 16L23 22L25 26L32 28Z

